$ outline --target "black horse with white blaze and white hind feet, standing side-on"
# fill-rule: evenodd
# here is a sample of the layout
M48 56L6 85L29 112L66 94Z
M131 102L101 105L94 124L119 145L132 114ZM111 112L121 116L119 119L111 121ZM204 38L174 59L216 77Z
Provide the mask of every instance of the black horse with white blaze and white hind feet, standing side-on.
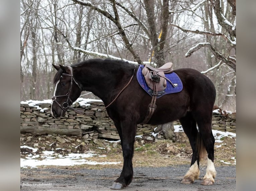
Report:
M136 127L147 115L151 101L151 96L138 84L136 75L133 77L139 66L124 61L91 59L72 66L53 67L57 70L51 105L55 118L64 116L82 91L97 95L105 105L111 103L106 109L119 133L124 158L122 172L111 189L128 186L133 178ZM190 168L181 183L193 183L199 178L199 161L203 152L207 151L207 169L202 184L211 185L216 176L213 163L215 138L212 133L216 90L209 78L194 69L177 69L174 72L182 81L183 89L179 93L157 98L157 108L148 124L163 124L179 119L193 150Z

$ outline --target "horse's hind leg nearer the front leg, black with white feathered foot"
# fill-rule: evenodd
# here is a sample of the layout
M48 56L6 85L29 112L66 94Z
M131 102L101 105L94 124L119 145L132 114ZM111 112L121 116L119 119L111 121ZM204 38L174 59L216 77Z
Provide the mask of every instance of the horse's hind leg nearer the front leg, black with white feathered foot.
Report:
M191 159L191 165L185 176L183 177L181 183L183 184L191 184L195 181L195 179L199 178L200 170L199 170L199 159L198 158L198 148L197 148L197 138L198 138L198 130L196 120L193 118L190 112L179 119L182 128L185 134L188 137L189 143L191 145L193 154Z

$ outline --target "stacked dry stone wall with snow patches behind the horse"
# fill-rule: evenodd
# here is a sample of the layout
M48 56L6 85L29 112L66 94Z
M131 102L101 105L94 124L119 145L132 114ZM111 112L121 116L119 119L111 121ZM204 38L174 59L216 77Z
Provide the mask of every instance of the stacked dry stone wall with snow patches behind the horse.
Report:
M89 107L101 104L100 101L88 102ZM113 121L108 117L106 110L95 112L103 109L104 106L97 106L92 109L85 109L89 104L81 106L79 102L75 102L72 106L81 108L87 113L81 115L73 110L68 110L66 116L61 119L55 119L51 116L51 103L20 104L20 132L32 133L35 135L44 134L60 134L83 136L85 139L93 138L119 139L119 135ZM83 108L84 107L84 108ZM42 109L43 108L43 109ZM174 121L174 124L180 124ZM137 125L137 135L150 133L156 125ZM236 131L236 115L235 113L223 115L215 112L213 115L213 129L223 131Z

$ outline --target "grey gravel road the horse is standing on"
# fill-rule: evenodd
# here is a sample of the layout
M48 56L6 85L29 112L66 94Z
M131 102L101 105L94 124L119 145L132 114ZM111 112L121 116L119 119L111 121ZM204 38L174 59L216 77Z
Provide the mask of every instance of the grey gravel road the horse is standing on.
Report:
M236 190L236 166L216 167L217 177L211 186L201 185L206 168L201 168L201 180L194 184L181 184L188 165L169 167L136 167L132 183L124 190L129 191L210 191ZM26 190L70 190L109 191L121 169L105 168L89 170L80 168L32 168L21 169L21 191Z

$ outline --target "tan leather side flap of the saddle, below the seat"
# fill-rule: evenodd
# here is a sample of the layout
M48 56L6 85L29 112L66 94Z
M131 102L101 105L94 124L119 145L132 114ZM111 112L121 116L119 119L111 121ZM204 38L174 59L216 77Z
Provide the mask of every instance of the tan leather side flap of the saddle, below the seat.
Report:
M152 72L152 71L151 71ZM144 67L143 70L142 70L142 74L145 78L145 81L148 85L148 87L151 89L151 90L155 90L157 92L160 92L160 91L163 91L166 89L166 80L163 78L164 77L164 72L163 71L159 71L159 72L155 72L153 71L153 74L160 77L160 81L159 82L155 82L152 77L151 77L151 73L150 71ZM155 88L154 88L154 84L155 84Z

